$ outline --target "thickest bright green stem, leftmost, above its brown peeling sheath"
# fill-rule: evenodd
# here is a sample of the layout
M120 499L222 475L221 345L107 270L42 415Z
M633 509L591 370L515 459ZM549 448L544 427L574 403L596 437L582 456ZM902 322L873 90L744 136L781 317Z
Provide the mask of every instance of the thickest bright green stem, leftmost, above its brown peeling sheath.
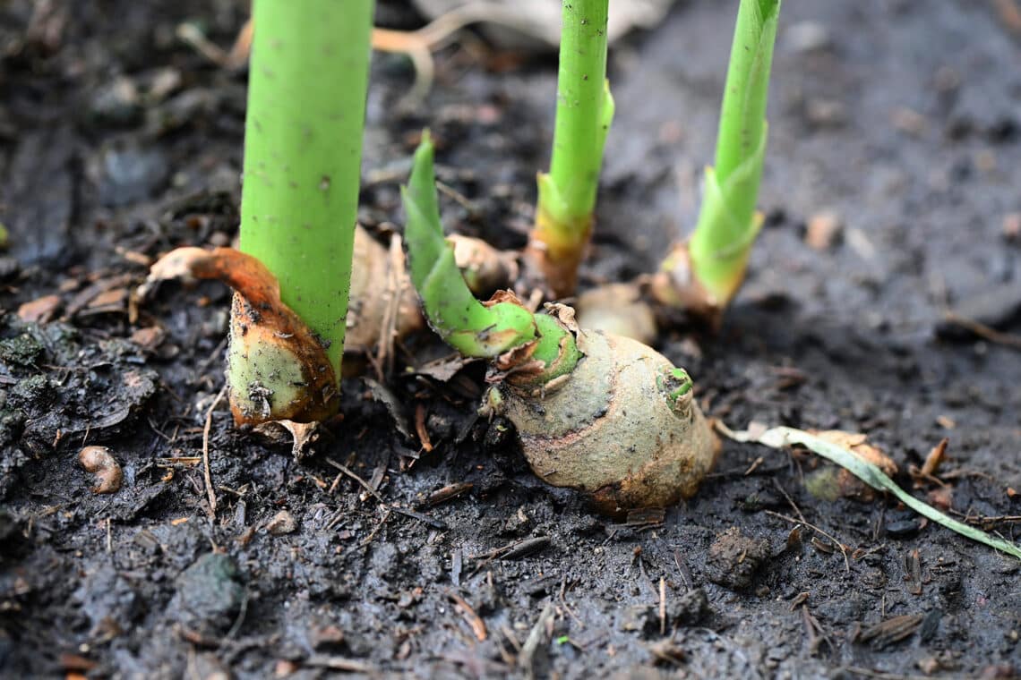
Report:
M241 250L327 347L339 376L373 0L255 0Z

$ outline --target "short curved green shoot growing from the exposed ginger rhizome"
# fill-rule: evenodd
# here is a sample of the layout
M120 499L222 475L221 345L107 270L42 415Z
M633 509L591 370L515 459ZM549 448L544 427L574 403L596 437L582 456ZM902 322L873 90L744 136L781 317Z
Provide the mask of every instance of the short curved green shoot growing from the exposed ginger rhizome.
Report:
M466 356L496 359L534 344L530 358L546 366L541 380L570 372L580 353L570 331L555 319L533 315L505 295L483 304L468 289L454 261L453 248L443 238L433 155L433 143L426 133L415 152L408 186L401 188L407 213L404 237L408 269L430 325Z

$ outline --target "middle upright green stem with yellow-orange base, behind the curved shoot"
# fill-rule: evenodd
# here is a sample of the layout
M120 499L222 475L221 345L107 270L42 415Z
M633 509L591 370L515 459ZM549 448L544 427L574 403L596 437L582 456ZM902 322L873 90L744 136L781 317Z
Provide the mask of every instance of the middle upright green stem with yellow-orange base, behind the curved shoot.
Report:
M549 173L538 176L539 201L526 255L553 296L574 293L592 233L602 148L614 118L606 83L609 0L563 0L556 123Z

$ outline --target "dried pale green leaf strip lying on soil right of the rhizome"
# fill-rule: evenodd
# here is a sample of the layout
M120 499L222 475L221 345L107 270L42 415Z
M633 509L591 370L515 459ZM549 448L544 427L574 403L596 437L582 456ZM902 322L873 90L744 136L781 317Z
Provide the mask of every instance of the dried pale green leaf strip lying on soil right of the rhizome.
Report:
M752 441L770 447L771 449L785 449L795 444L803 446L806 449L822 456L826 460L836 463L845 470L848 470L856 477L877 491L888 491L892 493L897 501L908 506L922 517L928 518L936 524L944 526L947 529L965 536L966 538L984 543L992 548L1007 553L1008 555L1021 560L1021 546L1004 538L992 536L980 529L969 526L964 522L959 522L956 519L939 512L932 506L919 501L911 493L897 486L896 482L890 479L877 465L869 462L861 455L855 454L850 450L833 443L818 434L812 434L811 432L806 432L805 430L795 429L793 427L772 427L766 430L762 430L761 428L752 430L749 428L744 432L734 432L722 423L717 424L717 429L734 441Z

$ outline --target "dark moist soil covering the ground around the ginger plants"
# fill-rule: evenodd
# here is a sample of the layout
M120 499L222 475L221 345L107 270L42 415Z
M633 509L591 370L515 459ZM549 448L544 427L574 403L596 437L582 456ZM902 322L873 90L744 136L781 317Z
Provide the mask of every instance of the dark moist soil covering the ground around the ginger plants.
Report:
M228 45L243 4L0 7L0 675L1021 671L1016 561L892 501L820 500L805 483L818 459L753 446L726 443L716 475L665 516L596 516L473 417L477 367L387 380L431 452L360 379L301 462L233 429L220 403L210 518L203 426L228 293L167 284L134 323L126 295L148 259L236 231L244 76L175 28L200 20ZM747 284L719 334L677 325L661 347L731 426L866 432L905 485L949 437L939 498L1017 539L1021 357L941 323L951 305L1021 332L1021 48L996 4L785 3ZM586 285L648 270L693 222L735 6L680 3L615 47ZM421 23L394 3L379 20ZM363 223L400 223L397 182L429 125L440 178L472 207L445 201L448 227L523 244L555 59L513 56L478 37L446 48L410 113L407 63L376 58ZM807 224L826 211L842 229L815 250ZM18 319L45 296L43 322ZM119 461L118 492L92 492L84 444Z

